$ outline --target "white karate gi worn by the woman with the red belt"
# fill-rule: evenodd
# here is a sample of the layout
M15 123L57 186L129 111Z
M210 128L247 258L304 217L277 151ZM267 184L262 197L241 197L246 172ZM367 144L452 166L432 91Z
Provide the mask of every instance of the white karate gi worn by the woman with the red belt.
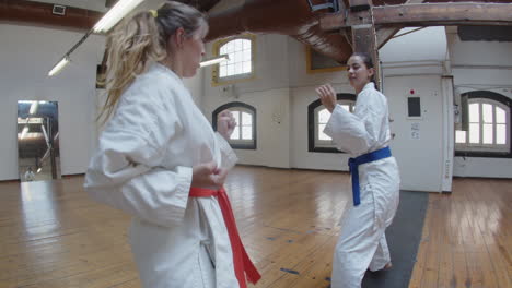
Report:
M237 158L182 80L153 64L123 94L84 184L133 216L129 241L143 287L238 287L217 199L188 197L191 167L212 160L231 169Z

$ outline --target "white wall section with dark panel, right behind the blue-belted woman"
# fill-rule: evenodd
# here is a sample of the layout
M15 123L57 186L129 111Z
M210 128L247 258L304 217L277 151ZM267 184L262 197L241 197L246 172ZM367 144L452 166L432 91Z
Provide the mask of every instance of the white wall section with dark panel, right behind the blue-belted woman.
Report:
M410 89L421 99L421 119L407 118ZM392 151L400 168L402 189L441 191L443 121L441 79L437 75L385 79L389 115L394 119ZM419 124L419 139L411 136L411 125Z

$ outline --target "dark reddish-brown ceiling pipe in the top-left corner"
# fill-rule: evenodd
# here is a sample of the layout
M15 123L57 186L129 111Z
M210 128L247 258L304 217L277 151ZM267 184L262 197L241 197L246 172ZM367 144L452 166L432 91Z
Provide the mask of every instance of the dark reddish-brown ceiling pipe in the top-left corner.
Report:
M66 7L66 15L51 13L54 4L24 0L0 0L0 23L22 23L71 31L89 31L103 13Z

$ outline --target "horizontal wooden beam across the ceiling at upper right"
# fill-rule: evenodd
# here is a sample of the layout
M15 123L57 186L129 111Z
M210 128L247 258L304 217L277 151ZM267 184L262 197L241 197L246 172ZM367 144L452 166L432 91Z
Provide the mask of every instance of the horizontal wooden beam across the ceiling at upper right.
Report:
M510 3L421 3L405 5L373 7L374 25L447 26L447 25L512 25ZM341 13L328 14L321 19L324 31L339 31L369 19L346 17Z

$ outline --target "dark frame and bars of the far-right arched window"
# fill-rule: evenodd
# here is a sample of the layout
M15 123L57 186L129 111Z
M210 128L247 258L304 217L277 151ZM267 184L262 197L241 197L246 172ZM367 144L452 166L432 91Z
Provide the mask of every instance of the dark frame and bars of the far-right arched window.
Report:
M480 143L473 144L469 143L469 131L466 131L466 143L455 143L455 156L463 156L463 157L490 157L490 158L512 158L512 145L511 145L511 135L512 135L512 109L511 104L512 100L501 94L490 92L490 91L474 91L464 93L461 97L466 97L467 101L462 101L467 104L467 107L463 107L463 110L467 111L467 122L469 125L469 105L478 103L479 104L479 133L480 133ZM505 142L507 144L500 147L500 144L482 144L482 124L484 124L484 116L482 116L482 106L484 104L490 104L493 107L492 110L492 131L493 131L493 139L496 137L496 108L500 107L505 111L505 120L508 121L505 124L508 125ZM466 117L466 116L464 116ZM454 133L456 133L455 130ZM454 137L456 141L456 135Z

